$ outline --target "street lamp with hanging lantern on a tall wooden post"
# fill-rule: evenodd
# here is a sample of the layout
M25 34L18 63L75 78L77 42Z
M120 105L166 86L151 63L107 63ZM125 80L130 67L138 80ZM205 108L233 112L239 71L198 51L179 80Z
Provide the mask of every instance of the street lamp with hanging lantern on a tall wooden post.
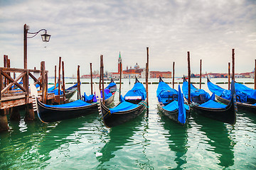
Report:
M44 34L41 35L41 38L43 40L43 42L49 42L50 40L50 35L47 34L47 30L46 29L41 29L41 30L38 30L38 32L36 33L28 33L28 30L29 30L29 26L27 26L26 24L24 25L24 69L27 69L28 68L28 62L27 62L27 58L28 58L28 53L27 53L27 42L28 42L28 38L33 38L35 37L36 35L38 35L38 33L40 33L42 30L45 31ZM31 34L32 36L31 37L28 37L28 34Z

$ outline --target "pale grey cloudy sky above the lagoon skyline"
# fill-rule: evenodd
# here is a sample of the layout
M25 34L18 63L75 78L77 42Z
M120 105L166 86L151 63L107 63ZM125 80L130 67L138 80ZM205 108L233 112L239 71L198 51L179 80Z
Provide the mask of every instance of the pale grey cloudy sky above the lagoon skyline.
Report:
M35 1L0 0L0 67L9 55L11 67L23 68L23 25L31 32L46 28L50 42L41 36L28 39L28 68L46 62L50 76L58 57L65 75L89 74L100 69L117 72L119 52L123 68L136 63L145 67L149 47L149 70L187 73L228 72L235 49L235 72L251 72L256 59L256 1L246 0L97 0Z

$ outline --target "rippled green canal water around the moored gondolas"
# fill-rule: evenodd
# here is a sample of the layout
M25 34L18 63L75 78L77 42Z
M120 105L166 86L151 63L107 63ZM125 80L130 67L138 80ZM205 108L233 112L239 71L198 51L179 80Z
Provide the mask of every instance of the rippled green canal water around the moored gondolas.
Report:
M128 82L122 94L134 79ZM98 113L43 124L24 122L21 111L21 121L9 121L10 130L0 132L0 169L256 169L255 113L238 111L234 126L191 113L181 126L158 111L156 88L149 85L149 115L112 129ZM90 85L82 84L82 91L89 93Z

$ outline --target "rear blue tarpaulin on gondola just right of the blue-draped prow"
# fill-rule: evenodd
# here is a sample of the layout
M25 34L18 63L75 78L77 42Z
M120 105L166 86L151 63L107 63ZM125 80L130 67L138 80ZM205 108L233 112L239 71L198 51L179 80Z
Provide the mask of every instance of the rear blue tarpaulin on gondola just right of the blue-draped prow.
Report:
M183 82L182 91L183 91L185 98L188 98L188 81ZM194 96L199 96L201 94L206 95L206 101L208 101L210 99L210 94L208 94L203 89L196 89L196 87L193 86L193 84L191 84L191 98Z

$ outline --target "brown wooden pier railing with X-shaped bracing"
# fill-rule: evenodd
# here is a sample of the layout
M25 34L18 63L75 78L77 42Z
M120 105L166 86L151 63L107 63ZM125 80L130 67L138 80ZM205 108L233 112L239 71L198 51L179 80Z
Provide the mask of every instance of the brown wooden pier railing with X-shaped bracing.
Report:
M11 73L14 74L13 78ZM18 73L18 77L16 77ZM40 73L38 79L33 73ZM15 78L16 77L16 78ZM39 84L42 89L42 101L46 103L47 89L48 89L48 71L46 71L45 62L41 62L41 69L15 69L8 67L0 67L0 100L4 97L14 97L18 95L25 95L25 101L28 103L29 88L28 79L31 77L34 81L34 85ZM18 81L22 79L23 85L18 84ZM18 89L14 89L12 86L16 86ZM17 93L18 92L18 93Z

